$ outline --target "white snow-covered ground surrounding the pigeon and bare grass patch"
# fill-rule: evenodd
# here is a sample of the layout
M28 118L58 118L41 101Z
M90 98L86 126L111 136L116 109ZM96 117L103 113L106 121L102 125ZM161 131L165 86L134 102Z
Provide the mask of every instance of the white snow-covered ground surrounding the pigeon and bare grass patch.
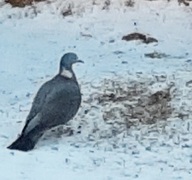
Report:
M24 9L0 2L0 179L190 180L191 7L176 0L137 0L134 7L123 0L109 6L81 0L72 1L73 15L63 17L70 1L61 2ZM132 32L159 42L121 40ZM6 149L20 133L38 88L57 73L60 57L69 51L85 62L74 66L83 102L70 123L73 135L49 132L27 153ZM144 56L154 51L167 56ZM155 90L173 83L174 112L166 121L114 134L103 119L113 105L102 107L90 97L105 91L106 80L123 86L130 79L155 81Z

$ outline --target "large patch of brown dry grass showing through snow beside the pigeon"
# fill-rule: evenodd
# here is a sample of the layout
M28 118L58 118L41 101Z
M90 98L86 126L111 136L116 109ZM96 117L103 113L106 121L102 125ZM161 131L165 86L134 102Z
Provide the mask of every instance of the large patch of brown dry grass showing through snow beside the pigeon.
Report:
M138 123L153 124L170 117L170 88L150 92L150 82L106 79L102 82L103 92L95 96L102 106L103 120L124 124L127 128Z

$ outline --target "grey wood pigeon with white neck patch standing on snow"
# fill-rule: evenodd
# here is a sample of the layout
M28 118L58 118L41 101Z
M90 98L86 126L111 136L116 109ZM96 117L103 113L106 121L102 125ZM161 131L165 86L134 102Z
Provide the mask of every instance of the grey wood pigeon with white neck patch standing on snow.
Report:
M21 135L8 149L32 150L45 131L66 124L75 116L81 92L72 65L79 62L83 63L75 53L63 55L59 73L40 87Z

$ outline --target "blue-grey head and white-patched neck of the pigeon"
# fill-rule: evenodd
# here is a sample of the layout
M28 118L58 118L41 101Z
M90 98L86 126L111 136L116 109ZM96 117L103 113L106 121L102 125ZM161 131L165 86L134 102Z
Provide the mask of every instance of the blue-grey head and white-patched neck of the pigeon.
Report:
M78 56L75 53L64 54L60 62L60 75L72 78L74 76L72 65L78 62L83 63L82 60L78 59Z

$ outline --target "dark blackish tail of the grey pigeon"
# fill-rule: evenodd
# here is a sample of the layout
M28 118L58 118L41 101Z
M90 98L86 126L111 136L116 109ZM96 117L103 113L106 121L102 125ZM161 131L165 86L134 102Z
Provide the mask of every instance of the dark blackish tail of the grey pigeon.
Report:
M37 143L39 138L39 136L36 136L36 138L31 138L29 135L21 135L7 148L19 151L30 151L35 147L35 144Z

